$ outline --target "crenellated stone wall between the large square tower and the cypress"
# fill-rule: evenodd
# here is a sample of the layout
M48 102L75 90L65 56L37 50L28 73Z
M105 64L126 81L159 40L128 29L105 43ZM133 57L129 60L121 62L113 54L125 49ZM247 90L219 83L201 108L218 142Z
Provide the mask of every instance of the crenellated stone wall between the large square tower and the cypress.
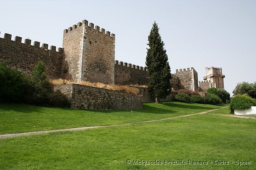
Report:
M148 73L145 67L135 66L128 63L115 61L115 82L114 84L144 85L149 83Z

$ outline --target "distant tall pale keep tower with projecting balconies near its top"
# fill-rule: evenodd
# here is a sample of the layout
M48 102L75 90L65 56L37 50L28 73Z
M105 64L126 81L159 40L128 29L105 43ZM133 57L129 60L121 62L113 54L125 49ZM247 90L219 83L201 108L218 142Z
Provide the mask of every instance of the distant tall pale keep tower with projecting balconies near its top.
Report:
M205 67L205 75L203 79L210 81L211 87L224 89L225 75L222 74L221 67Z

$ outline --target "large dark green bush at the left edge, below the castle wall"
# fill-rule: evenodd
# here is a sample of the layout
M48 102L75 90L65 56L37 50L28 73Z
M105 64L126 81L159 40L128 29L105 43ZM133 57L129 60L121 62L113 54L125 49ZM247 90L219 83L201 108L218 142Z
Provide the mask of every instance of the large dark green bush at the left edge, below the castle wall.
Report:
M29 78L22 72L0 63L0 102L25 102L30 89Z

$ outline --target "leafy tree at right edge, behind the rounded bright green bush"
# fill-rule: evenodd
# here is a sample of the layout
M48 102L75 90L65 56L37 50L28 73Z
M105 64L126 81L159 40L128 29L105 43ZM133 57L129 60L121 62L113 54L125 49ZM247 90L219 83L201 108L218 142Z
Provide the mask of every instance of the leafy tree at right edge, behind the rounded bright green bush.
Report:
M237 83L233 93L234 95L248 94L252 98L256 98L256 82L254 82L254 84L248 82Z

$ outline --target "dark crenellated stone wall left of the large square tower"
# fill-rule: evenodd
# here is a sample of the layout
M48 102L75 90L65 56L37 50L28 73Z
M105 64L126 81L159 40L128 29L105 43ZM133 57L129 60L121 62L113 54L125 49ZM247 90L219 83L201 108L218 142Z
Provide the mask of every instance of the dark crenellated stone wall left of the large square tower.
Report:
M0 38L0 62L6 61L8 66L17 67L26 75L30 75L37 63L42 60L46 66L48 79L57 79L61 76L61 65L63 59L63 48L56 51L55 46L42 44L34 41L31 45L30 39L25 39L22 43L22 37L15 37L11 40L12 35L5 33L4 38Z

